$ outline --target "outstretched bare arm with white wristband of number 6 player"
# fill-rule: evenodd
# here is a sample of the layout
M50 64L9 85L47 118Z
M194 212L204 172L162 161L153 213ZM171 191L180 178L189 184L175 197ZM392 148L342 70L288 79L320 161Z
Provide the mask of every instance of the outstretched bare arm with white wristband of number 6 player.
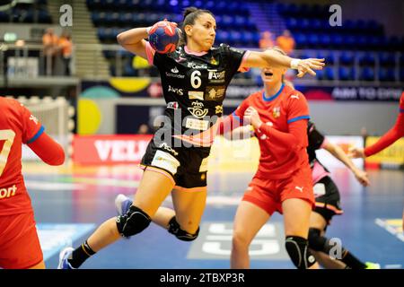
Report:
M250 55L245 59L243 66L250 68L265 68L268 66L292 68L299 72L298 77L303 77L306 73L315 75L316 73L313 70L321 70L325 65L324 60L318 58L294 59L275 50L250 51Z

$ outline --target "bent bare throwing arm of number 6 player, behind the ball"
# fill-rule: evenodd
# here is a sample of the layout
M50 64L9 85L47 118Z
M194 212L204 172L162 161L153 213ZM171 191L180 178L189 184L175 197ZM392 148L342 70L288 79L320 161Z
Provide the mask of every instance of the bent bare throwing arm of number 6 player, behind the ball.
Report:
M148 28L135 28L119 33L117 40L120 46L139 57L147 59L145 39L148 37Z

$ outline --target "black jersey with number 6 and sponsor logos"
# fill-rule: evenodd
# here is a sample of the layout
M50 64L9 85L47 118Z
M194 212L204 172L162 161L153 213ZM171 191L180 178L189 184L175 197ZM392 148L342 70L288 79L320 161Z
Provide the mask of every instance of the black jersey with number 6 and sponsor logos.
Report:
M224 44L202 56L186 53L184 46L170 54L154 53L153 64L160 71L167 104L161 128L165 132L171 129L172 135L186 141L189 135L215 133L215 128L211 129L223 115L227 86L244 53ZM202 145L210 145L206 144Z

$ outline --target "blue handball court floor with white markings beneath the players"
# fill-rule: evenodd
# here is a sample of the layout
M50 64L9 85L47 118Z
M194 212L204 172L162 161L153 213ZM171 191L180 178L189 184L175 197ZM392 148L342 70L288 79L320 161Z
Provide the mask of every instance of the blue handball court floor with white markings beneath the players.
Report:
M380 263L382 268L403 268L404 171L367 171L372 185L364 188L348 170L331 170L345 213L334 217L328 237L340 240L363 261ZM247 168L209 170L206 211L198 239L183 242L151 224L141 234L101 250L82 268L229 268L233 217L253 172ZM77 247L101 222L117 214L115 196L132 196L142 170L136 165L66 164L54 168L30 162L23 164L23 174L45 263L54 269L61 248L72 244ZM171 197L163 205L171 206ZM276 213L251 243L251 268L294 268L285 253L284 239L282 216Z

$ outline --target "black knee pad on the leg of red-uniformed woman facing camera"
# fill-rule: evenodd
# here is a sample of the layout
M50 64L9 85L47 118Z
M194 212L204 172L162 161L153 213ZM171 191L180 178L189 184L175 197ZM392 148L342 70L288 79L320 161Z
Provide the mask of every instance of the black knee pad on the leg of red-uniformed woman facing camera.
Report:
M308 240L299 236L286 236L285 248L298 269L307 269L316 262L308 248Z

